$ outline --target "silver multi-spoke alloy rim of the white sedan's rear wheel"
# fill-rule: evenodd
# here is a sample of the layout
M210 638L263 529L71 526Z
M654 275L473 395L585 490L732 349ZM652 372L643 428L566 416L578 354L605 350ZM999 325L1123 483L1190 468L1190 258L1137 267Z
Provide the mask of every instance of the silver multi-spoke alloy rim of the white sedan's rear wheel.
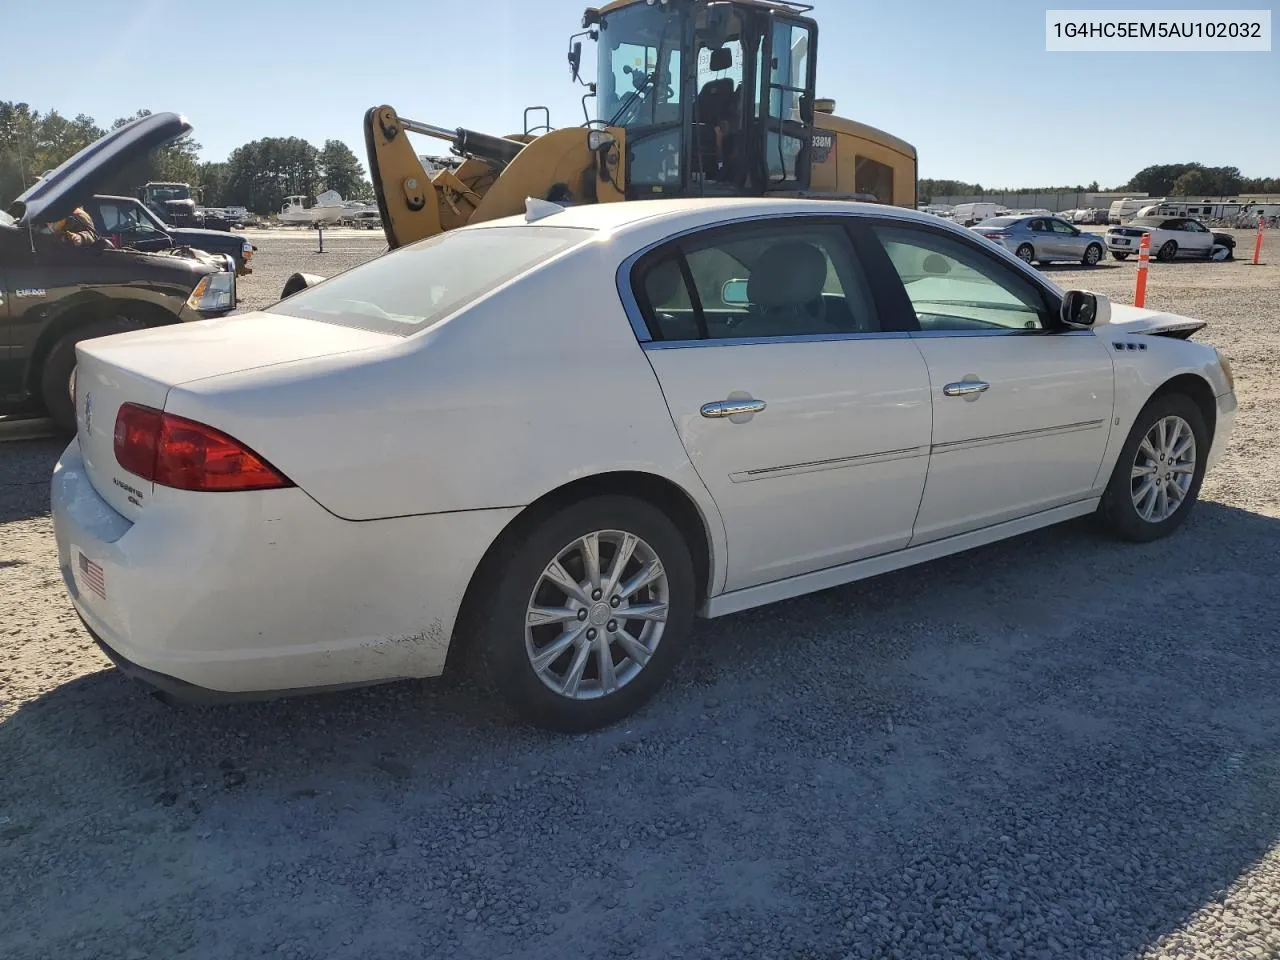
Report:
M607 696L649 663L669 599L667 571L645 540L623 530L586 534L538 577L525 611L525 653L561 696Z

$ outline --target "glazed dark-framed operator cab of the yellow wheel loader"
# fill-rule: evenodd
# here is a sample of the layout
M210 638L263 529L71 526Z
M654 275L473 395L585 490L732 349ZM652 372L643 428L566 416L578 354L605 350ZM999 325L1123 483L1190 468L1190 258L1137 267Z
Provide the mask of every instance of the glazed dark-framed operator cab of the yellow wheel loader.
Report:
M628 200L809 188L808 8L666 0L588 10L598 116L626 131Z

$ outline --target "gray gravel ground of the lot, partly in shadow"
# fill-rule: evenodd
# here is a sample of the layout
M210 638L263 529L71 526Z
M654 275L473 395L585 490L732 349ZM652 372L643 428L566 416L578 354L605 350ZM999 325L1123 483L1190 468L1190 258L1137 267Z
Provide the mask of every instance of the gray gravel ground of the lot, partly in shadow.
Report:
M380 251L256 242L248 306ZM703 623L591 736L444 681L165 707L63 594L59 444L0 443L0 956L1280 956L1271 260L1152 266L1242 401L1176 536L1075 522ZM1132 262L1052 273L1132 301Z

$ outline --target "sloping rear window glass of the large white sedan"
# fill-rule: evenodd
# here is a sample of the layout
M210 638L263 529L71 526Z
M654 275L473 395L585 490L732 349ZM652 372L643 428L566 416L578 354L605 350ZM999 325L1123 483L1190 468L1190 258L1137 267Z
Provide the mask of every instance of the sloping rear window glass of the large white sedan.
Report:
M408 337L594 233L572 227L451 230L338 274L266 312Z

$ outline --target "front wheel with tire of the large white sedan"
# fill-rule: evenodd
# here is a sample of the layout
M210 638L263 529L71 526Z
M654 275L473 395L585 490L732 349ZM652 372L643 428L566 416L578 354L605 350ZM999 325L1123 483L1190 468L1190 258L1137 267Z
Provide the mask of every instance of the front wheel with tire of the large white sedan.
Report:
M1175 422L1180 426L1175 428ZM1172 438L1166 444L1160 442L1161 425L1164 436ZM1188 431L1192 443L1179 454ZM1169 393L1147 403L1129 431L1098 504L1098 516L1111 532L1124 540L1147 543L1176 530L1199 495L1210 440L1204 416L1190 397ZM1170 454L1176 460L1171 461ZM1152 490L1146 489L1148 479ZM1175 486L1179 493L1172 495Z

